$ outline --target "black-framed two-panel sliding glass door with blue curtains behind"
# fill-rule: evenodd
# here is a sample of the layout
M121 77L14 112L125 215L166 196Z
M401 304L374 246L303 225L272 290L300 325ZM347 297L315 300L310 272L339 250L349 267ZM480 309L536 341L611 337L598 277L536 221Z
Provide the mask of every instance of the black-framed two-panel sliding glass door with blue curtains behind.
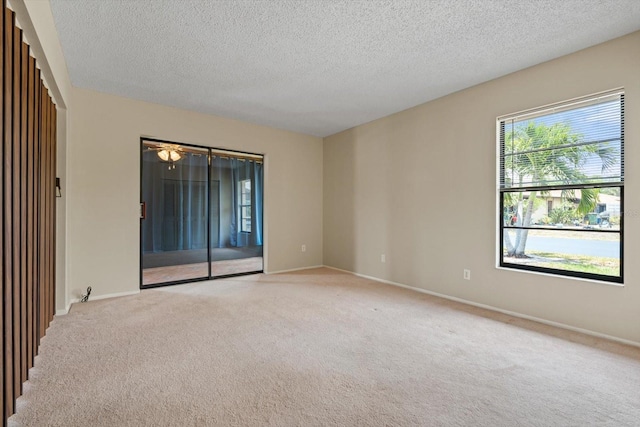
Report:
M261 272L262 156L141 147L141 286Z

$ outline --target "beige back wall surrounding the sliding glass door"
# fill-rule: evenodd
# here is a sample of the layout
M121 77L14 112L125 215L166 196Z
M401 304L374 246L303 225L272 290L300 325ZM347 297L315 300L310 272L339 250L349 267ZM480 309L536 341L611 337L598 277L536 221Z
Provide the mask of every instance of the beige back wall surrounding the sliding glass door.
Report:
M140 136L264 153L266 270L322 264L322 139L77 88L72 103L71 299L87 286L92 296L139 289Z

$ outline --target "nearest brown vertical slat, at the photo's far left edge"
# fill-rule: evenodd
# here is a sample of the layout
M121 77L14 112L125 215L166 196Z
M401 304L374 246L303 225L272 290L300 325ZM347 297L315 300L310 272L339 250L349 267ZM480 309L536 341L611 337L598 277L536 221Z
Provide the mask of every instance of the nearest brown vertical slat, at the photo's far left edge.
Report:
M13 393L13 248L12 248L12 223L13 209L11 204L12 194L12 77L13 77L13 12L4 9L4 109L3 109L3 147L4 147L4 163L3 163L3 201L4 201L4 224L3 224L3 245L4 245L4 280L3 280L3 310L4 310L4 400L3 414L4 418L8 418L13 414L14 393Z

